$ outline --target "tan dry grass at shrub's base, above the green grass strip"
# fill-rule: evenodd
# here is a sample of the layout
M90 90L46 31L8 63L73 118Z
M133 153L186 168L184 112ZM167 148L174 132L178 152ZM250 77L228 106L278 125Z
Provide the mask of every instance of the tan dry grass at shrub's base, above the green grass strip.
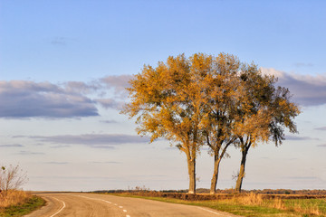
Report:
M2 192L0 193L0 209L23 204L31 197L31 193L26 193L24 191L8 190L7 192Z

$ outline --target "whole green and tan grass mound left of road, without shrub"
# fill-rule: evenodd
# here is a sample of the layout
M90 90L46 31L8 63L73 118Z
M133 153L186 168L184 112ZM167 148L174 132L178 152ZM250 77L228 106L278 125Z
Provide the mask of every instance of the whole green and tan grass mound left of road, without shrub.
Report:
M44 200L23 191L0 193L0 217L23 216L45 204Z

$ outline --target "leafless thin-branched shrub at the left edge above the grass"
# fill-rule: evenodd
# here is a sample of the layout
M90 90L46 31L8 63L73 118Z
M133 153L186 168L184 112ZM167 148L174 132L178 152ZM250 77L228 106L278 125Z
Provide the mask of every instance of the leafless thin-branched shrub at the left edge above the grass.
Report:
M27 175L19 165L2 166L0 172L0 190L16 190L27 182Z

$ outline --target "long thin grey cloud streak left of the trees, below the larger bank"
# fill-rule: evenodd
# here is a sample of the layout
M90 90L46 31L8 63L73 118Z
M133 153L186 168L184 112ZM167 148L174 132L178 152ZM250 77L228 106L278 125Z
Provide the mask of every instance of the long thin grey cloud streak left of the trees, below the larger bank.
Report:
M113 148L112 145L149 143L149 137L139 137L126 134L84 134L59 135L52 137L31 136L41 142L54 144L86 145L95 148Z

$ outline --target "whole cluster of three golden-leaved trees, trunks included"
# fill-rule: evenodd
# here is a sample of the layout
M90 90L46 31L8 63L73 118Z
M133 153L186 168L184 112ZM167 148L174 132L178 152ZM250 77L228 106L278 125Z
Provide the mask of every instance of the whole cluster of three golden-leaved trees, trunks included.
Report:
M243 154L236 189L241 190L245 159L251 146L284 139L296 132L299 109L289 90L275 87L273 76L234 55L196 53L168 57L158 66L145 65L130 80L129 103L122 113L136 117L139 135L164 137L187 156L188 193L196 193L196 158L201 146L214 156L210 193L216 193L221 160L229 146Z

